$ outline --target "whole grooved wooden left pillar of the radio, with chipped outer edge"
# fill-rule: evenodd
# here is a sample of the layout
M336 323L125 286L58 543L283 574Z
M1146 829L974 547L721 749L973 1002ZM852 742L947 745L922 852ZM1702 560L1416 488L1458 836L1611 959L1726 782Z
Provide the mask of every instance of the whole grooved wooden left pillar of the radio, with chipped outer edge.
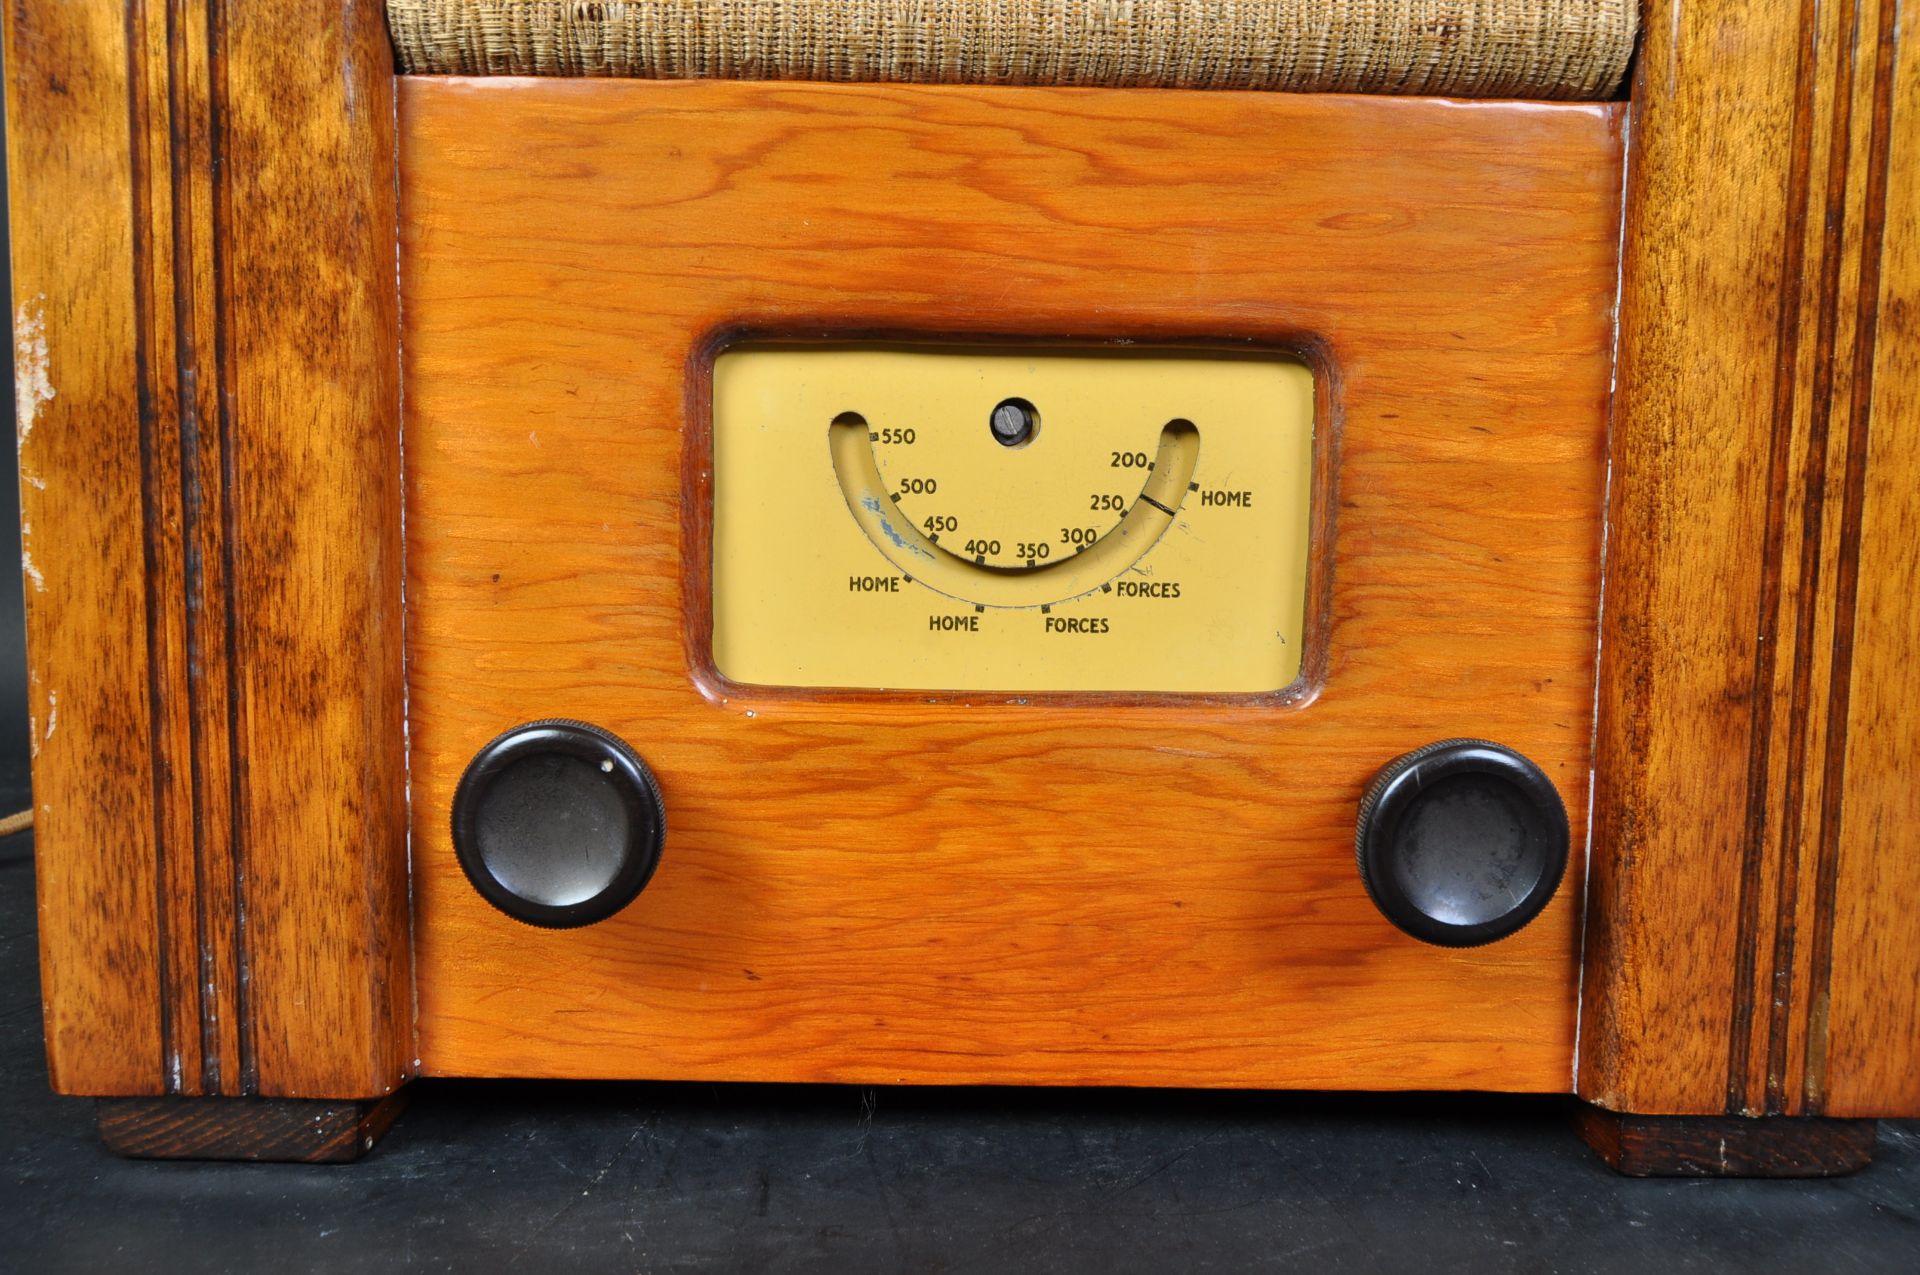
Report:
M54 1083L386 1093L413 1041L378 8L35 0L6 38Z

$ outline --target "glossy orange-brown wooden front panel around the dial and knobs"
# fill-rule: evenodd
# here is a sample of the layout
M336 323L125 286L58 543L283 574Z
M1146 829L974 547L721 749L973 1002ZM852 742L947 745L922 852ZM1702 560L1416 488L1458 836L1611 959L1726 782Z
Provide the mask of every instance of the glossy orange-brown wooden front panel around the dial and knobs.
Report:
M1578 853L1475 950L1354 810L1446 735L1586 824L1613 106L403 81L409 680L432 1073L1567 1091ZM1246 342L1327 369L1323 686L1035 705L695 686L728 332ZM695 636L697 638L697 636ZM447 806L518 720L628 737L659 876L503 918Z

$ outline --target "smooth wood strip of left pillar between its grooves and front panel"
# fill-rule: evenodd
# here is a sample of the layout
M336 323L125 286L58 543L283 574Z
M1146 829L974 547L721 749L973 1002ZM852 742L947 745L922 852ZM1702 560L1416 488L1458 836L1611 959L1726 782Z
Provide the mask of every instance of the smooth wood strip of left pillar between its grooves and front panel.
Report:
M219 31L253 1093L365 1098L415 1058L394 61L372 4Z

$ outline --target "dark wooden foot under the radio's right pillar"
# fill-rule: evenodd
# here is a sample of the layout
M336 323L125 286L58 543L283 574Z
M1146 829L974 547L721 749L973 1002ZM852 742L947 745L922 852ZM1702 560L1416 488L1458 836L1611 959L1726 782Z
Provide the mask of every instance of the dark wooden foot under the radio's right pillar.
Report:
M1874 1158L1872 1119L1634 1116L1582 1102L1576 1123L1628 1177L1837 1177Z

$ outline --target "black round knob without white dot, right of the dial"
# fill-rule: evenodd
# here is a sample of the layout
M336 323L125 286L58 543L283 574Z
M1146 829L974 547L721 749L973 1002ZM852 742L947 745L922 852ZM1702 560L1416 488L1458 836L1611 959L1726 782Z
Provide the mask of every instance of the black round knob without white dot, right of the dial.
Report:
M1442 739L1388 762L1359 803L1359 879L1415 939L1476 947L1534 920L1567 872L1567 806L1519 753Z

